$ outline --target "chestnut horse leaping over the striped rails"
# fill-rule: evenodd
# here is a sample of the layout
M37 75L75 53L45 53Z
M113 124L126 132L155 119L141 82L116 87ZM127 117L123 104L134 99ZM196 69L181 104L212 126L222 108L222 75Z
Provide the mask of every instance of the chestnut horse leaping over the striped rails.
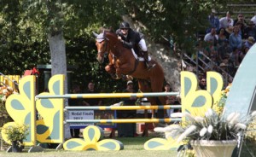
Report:
M131 49L126 49L114 32L104 31L96 36L97 60L102 63L104 54L108 53L109 64L105 70L115 78L122 75L131 75L137 78L138 87L142 92L162 92L164 72L156 61L155 67L147 69L144 61L138 61ZM165 105L165 97L148 97L151 105ZM154 113L153 115L154 116ZM157 118L164 118L164 110L158 110Z

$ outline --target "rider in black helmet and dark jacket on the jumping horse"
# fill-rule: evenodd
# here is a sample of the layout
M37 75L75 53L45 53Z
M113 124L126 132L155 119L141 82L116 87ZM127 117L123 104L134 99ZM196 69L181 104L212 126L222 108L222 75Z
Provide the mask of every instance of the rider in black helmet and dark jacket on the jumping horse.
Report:
M135 44L139 45L139 47L143 50L143 58L148 69L155 66L152 61L148 61L148 49L145 39L143 38L143 33L132 30L129 23L123 21L120 24L119 29L116 31L116 34L125 48L134 49Z

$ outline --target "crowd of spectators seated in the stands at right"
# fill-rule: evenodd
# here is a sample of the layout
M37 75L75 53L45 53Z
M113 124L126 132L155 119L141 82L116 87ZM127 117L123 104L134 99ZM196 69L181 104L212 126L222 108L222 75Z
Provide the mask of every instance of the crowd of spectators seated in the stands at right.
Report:
M198 64L202 67L198 77L204 80L207 71L217 71L230 83L247 51L255 43L256 13L249 20L245 20L242 14L233 20L235 16L229 11L224 17L216 14L216 10L212 9L208 16L209 27L196 44Z

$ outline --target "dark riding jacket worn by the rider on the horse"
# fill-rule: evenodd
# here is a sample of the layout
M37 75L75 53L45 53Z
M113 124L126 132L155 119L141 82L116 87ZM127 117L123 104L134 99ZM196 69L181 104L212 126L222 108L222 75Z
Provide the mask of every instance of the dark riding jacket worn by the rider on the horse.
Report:
M143 38L143 33L133 31L131 28L128 30L126 38L125 35L121 32L121 29L118 29L116 34L122 38L124 41L124 47L128 49L135 49L135 45L138 44Z

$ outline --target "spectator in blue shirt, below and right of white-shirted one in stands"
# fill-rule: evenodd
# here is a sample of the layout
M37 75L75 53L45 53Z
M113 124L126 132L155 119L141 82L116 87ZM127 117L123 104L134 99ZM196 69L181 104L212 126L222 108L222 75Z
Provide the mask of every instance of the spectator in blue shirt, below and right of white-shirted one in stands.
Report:
M230 47L232 49L238 48L241 49L241 35L239 34L239 27L234 26L233 32L230 34L229 38Z

